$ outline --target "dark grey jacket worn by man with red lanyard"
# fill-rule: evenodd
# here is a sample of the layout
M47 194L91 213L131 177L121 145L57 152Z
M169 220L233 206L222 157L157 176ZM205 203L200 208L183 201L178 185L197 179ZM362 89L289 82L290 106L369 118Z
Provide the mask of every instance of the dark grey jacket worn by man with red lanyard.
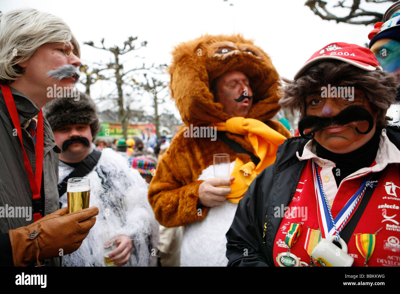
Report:
M37 106L24 94L11 88L21 126L26 124L39 113ZM53 132L46 118L43 119L44 150L43 174L41 194L42 210L44 215L56 211L59 207L57 181L58 181L58 154L60 148L54 142ZM14 136L14 125L8 113L6 103L0 91L0 206L32 207L32 190L28 174L24 166L24 157L18 136ZM35 173L35 147L30 134L22 129L24 148ZM33 214L33 211L32 211ZM0 218L0 266L4 264L5 252L10 252L8 230L28 226L34 222L33 215L30 220L18 217ZM8 241L8 244L7 244ZM7 254L9 255L9 254ZM12 260L12 259L11 259ZM3 261L3 262L2 262ZM9 265L8 262L6 264Z

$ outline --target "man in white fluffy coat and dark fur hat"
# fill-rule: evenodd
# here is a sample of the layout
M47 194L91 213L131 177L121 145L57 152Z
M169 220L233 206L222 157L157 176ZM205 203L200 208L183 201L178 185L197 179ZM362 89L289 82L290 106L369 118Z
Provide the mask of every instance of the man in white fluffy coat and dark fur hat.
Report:
M154 266L158 224L147 202L147 184L128 167L126 158L110 148L101 152L92 143L100 131L90 97L58 98L44 107L59 154L58 193L67 205L68 178L90 179L90 203L99 208L96 225L82 246L64 257L65 266L104 265L104 245L115 244L109 257L116 266ZM153 250L154 248L154 250Z

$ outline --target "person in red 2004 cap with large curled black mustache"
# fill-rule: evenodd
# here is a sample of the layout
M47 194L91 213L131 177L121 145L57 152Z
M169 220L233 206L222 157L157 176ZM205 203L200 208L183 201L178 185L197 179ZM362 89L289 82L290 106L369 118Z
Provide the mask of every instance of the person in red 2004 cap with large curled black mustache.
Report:
M396 76L368 48L331 43L284 81L279 103L300 112L301 137L240 201L228 265L399 266L400 131L386 122Z

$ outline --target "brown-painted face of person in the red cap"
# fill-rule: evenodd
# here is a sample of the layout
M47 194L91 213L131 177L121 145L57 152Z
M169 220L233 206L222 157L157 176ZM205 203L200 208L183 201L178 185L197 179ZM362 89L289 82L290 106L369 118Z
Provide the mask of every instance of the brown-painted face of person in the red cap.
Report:
M314 137L322 147L338 154L352 152L372 138L376 116L362 90L355 89L352 100L346 97L323 96L316 89L310 91L306 97L305 114L312 117L299 123L299 132L303 134L303 138ZM342 112L346 108L348 109ZM364 111L357 111L357 108L364 108Z

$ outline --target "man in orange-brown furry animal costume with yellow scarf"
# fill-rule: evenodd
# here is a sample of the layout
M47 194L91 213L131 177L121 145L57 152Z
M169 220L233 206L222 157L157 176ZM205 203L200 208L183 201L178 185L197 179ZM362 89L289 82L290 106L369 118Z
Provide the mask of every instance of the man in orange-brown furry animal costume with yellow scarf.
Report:
M186 126L160 159L149 201L160 224L185 226L182 266L226 266L225 234L237 204L290 136L270 120L279 110L278 73L240 35L204 35L172 56L171 94ZM229 180L214 178L218 153L230 156Z

